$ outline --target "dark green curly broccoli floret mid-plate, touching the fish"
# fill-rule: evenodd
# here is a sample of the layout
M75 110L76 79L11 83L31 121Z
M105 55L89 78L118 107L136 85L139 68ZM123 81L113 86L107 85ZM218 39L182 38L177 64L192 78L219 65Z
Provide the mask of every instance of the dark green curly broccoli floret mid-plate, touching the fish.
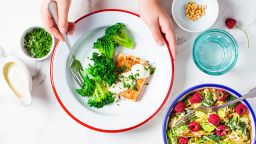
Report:
M106 85L112 85L117 80L115 63L112 58L99 55L94 52L92 55L94 65L87 69L87 72L95 81L103 81Z

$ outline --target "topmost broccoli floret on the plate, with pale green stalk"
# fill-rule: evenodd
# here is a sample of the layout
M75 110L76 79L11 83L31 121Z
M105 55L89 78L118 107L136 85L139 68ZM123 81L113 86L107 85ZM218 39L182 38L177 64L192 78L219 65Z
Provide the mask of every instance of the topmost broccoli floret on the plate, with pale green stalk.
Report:
M109 26L105 31L105 36L117 42L120 46L133 48L134 41L131 39L128 29L123 23Z

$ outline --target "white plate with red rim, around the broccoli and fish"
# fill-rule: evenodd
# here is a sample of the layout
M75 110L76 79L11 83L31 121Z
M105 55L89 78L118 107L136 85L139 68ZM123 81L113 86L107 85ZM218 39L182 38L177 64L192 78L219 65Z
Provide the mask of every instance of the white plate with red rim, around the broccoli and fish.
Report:
M75 81L66 70L69 50L59 43L51 60L51 83L56 98L66 113L78 123L101 132L121 132L136 128L151 119L166 102L173 83L174 64L170 49L157 46L148 27L131 12L100 10L76 21L76 31L69 37L76 57L83 65L92 52L93 42L103 35L104 28L122 22L130 29L136 42L135 49L122 48L121 52L148 60L156 72L145 86L137 102L121 100L101 109L90 108L87 98L80 97Z

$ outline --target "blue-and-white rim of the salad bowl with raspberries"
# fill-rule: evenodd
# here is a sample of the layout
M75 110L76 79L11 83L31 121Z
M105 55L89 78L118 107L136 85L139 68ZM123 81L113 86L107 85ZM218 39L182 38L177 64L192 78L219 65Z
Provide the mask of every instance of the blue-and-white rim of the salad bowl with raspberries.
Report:
M221 85L221 84L214 84L214 83L205 83L205 84L199 84L199 85L195 85L195 86L192 86L188 89L186 89L185 91L181 92L174 100L173 102L171 103L171 105L168 107L168 110L166 111L166 114L164 116L164 121L163 121L163 124L162 124L162 138L163 138L163 142L164 144L168 144L167 142L167 135L166 135L166 125L167 125L167 122L169 120L169 115L174 107L174 105L184 96L186 95L187 93L191 92L191 91L194 91L196 89L201 89L201 88L205 88L205 87L214 87L214 88L221 88L221 89L224 89L225 91L229 91L231 92L232 94L234 94L234 96L236 97L241 97L242 95L240 93L238 93L236 90L230 88L230 87L227 87L225 85ZM256 129L256 115L251 107L251 105L247 102L247 100L243 100L243 103L246 105L246 107L249 109L250 113L251 113L251 116L252 116L252 122L254 123L254 129ZM251 123L253 125L253 123ZM252 140L252 143L253 142L256 142L256 133L254 134L254 140Z

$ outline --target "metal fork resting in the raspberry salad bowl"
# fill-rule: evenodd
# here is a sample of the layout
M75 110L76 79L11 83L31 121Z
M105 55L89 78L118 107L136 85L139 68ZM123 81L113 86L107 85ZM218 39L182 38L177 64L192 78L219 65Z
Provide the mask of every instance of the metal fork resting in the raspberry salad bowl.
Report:
M242 101L246 98L253 98L253 97L256 97L256 87L253 88L252 90L250 90L247 94L245 94L244 96L238 98L238 99L235 99L233 101L230 101L226 104L222 104L222 105L218 105L218 106L212 106L212 107L198 107L198 108L195 108L191 111L189 111L186 115L184 115L181 119L179 119L176 123L175 123L175 126L174 127L179 127L181 125L187 125L190 120L195 116L195 112L196 111L202 111L204 113L209 113L209 112L214 112L214 111L217 111L218 109L221 109L221 108L224 108L224 107L227 107L229 105L232 105L234 103L237 103L239 101Z

